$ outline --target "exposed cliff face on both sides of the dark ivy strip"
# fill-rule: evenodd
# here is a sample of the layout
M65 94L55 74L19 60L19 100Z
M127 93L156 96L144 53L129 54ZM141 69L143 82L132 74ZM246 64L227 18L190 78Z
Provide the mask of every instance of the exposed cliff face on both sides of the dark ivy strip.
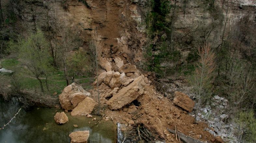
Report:
M107 71L116 68L114 62L116 57L124 64L143 61L143 50L145 51L146 43L150 40L147 39L145 22L147 12L150 11L147 4L149 1L87 0L86 2L88 6L78 0L35 1L33 5L20 2L19 5L23 5L21 6L23 9L17 9L17 13L20 15L22 13L23 20L28 21L31 26L37 25L42 29L46 28L47 16L50 22L57 19L69 27L77 27L85 42L84 48L87 47L87 42L97 28L102 39L99 61ZM181 61L202 39L210 39L217 47L224 28L226 31L232 30L234 24L246 15L255 18L256 11L256 2L251 0L228 2L218 0L214 3L204 0L177 0L171 3L173 6L169 17L174 16L172 40L174 47L181 51ZM224 26L227 16L227 24Z

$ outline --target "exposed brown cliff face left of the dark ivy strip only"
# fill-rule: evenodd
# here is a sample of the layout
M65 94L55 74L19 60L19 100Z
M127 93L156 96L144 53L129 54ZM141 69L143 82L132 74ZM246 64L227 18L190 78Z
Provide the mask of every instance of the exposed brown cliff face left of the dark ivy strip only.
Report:
M102 39L99 60L107 71L113 67L110 65L113 64L112 58L115 57L121 58L124 64L141 61L142 47L146 41L144 9L147 1L87 0L86 2L88 6L78 0L67 0L66 3L53 0L33 4L21 2L19 5L23 8L18 9L17 13L23 15L23 20L32 27L37 25L45 29L47 17L50 19L49 23L58 20L68 27L77 27L85 42L84 48L97 29ZM125 56L122 56L124 53Z

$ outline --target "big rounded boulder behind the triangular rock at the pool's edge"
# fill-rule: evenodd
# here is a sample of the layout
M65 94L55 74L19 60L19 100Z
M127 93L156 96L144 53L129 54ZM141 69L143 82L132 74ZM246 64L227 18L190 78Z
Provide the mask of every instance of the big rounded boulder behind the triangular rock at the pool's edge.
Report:
M72 83L64 88L62 93L59 95L59 101L63 109L72 110L86 96L90 95L91 94L85 91L82 86L77 83Z

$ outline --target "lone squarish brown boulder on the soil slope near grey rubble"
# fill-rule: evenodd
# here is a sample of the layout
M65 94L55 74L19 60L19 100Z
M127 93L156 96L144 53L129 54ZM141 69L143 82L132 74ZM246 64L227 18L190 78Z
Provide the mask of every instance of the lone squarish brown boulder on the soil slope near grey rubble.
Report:
M181 92L176 91L174 93L174 99L173 103L182 109L191 112L193 110L193 107L195 105L195 102L189 98L188 95L183 94Z

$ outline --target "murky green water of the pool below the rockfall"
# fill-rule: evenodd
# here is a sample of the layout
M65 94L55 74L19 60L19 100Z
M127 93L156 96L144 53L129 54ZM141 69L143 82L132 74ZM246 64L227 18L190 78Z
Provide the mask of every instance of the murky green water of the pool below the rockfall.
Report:
M4 126L19 110L20 106L17 99L4 102L0 98L0 128ZM74 131L89 130L89 143L115 143L117 140L117 129L112 121L101 121L92 127L96 121L85 116L68 116L68 123L57 125L54 121L56 112L61 109L31 107L28 110L22 109L20 113L7 125L0 130L0 143L69 143L69 134ZM88 122L91 122L89 124ZM75 128L73 125L78 125Z

